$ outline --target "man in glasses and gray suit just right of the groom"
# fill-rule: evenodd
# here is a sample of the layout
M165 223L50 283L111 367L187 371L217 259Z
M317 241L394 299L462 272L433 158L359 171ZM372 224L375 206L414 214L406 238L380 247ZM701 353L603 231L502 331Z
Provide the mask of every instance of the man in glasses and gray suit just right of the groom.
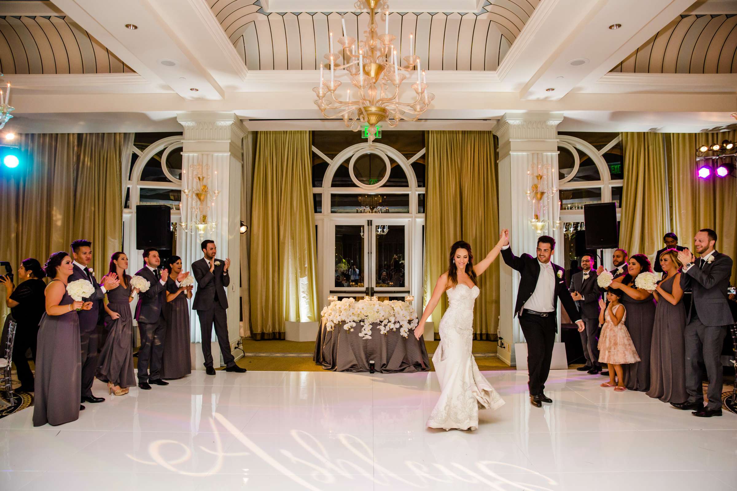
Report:
M573 300L576 300L576 306L581 312L581 320L584 321L586 328L579 333L581 334L581 345L584 347L584 358L586 364L576 370L595 375L601 372L601 364L598 362L598 339L596 332L598 331L598 300L601 298L598 284L596 283L596 272L593 271L594 260L593 255L584 254L581 256L581 269L570 279L570 293Z

